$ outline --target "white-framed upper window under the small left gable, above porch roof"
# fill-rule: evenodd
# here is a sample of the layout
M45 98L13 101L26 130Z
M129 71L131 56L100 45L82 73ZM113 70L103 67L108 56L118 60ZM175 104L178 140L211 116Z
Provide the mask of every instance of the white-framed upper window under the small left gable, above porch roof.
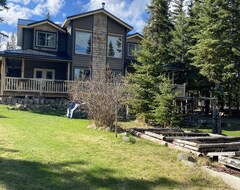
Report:
M37 31L37 46L56 48L56 33Z

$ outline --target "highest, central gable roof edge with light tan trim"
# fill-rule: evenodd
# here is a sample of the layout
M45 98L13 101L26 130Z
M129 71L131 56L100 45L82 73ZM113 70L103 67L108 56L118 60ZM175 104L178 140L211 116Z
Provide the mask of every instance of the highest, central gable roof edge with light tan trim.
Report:
M130 26L126 22L122 21L118 17L114 16L110 12L106 11L104 8L97 9L97 10L94 10L94 11L85 12L85 13L81 13L81 14L77 14L77 15L73 15L73 16L69 16L69 17L66 18L66 20L62 24L62 27L68 26L68 24L70 23L71 20L82 18L82 17L86 17L86 16L90 16L90 15L94 15L94 14L98 14L98 13L103 13L103 14L109 16L110 18L112 18L113 20L118 22L119 24L125 26L128 30L132 30L133 29L132 26Z

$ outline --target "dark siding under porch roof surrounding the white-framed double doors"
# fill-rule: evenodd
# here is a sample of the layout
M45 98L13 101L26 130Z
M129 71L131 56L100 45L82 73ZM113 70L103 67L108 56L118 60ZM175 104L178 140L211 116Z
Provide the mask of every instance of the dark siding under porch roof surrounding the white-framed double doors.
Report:
M33 78L34 68L54 69L56 80L67 79L67 63L25 60L25 78Z

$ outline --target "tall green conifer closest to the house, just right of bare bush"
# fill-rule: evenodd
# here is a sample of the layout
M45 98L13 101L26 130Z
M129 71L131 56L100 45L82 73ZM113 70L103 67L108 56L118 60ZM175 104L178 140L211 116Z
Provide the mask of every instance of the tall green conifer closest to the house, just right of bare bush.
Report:
M165 115L156 114L160 109L156 102L162 94L160 86L165 81L164 71L171 63L169 43L172 24L168 1L152 0L148 12L149 19L144 28L141 50L137 52L141 65L134 65L136 71L128 76L133 97L130 104L137 116L160 123L160 118Z

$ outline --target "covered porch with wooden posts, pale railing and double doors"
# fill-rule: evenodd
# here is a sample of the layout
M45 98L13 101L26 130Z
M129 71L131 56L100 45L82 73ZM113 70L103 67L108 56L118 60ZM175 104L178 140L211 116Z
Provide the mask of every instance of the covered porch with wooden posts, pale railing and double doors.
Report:
M71 60L3 55L1 62L1 96L68 96Z

